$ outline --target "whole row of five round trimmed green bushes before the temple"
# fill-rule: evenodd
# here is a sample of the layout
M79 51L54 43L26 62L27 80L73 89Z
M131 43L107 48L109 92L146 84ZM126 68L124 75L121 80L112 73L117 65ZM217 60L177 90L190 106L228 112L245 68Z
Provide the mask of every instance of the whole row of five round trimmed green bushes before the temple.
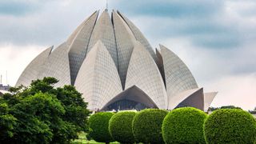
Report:
M222 109L207 116L185 107L146 109L138 113L100 112L89 118L90 136L97 142L121 143L254 143L256 121L244 110Z

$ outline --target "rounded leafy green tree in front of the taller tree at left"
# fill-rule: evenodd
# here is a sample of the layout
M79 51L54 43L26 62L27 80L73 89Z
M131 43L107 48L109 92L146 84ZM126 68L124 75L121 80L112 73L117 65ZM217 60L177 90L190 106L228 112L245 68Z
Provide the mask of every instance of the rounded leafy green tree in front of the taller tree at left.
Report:
M54 136L54 126L61 125L59 118L65 110L57 98L50 94L34 94L22 98L12 107L12 114L18 119L14 138L10 142L48 143Z

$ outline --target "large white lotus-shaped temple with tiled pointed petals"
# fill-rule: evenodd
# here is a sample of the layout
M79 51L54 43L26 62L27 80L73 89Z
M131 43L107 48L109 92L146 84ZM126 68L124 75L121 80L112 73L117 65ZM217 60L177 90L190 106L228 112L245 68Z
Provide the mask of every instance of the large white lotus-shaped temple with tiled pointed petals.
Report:
M95 11L57 48L50 46L22 72L16 86L58 78L72 85L90 110L207 110L216 92L205 93L190 70L166 46L156 50L125 15Z

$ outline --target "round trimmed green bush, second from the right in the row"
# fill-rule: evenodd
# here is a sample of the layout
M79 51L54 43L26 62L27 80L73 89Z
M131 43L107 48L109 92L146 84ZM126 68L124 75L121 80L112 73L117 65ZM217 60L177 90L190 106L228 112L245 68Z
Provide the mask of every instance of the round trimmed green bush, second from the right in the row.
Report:
M193 107L170 111L162 123L162 136L166 143L206 143L203 122L207 114Z

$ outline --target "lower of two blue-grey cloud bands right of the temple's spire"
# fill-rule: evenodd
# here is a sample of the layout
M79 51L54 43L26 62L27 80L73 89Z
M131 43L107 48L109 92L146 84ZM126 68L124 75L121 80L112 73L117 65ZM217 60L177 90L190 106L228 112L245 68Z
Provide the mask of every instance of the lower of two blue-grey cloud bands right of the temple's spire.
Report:
M242 31L237 26L223 24L216 20L202 19L158 19L150 18L146 25L146 35L152 39L189 38L194 46L205 48L236 48L242 46ZM142 25L138 23L138 25ZM152 37L154 36L154 37Z

